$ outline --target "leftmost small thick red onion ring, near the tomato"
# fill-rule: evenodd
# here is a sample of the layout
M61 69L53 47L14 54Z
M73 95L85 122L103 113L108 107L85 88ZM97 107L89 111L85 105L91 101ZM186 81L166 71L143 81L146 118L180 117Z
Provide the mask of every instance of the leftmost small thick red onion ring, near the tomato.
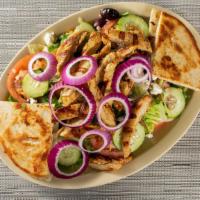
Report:
M45 70L39 74L33 71L33 64L38 59L44 59L47 62ZM53 54L47 52L37 53L32 57L28 64L28 72L30 76L36 81L50 80L56 73L57 60Z

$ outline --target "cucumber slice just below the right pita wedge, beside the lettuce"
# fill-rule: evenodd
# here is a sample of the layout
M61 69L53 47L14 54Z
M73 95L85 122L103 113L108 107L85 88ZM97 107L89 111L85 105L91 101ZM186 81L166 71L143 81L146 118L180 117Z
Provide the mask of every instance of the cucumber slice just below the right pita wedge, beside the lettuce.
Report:
M178 117L185 108L185 97L181 88L167 88L164 91L163 101L169 118Z

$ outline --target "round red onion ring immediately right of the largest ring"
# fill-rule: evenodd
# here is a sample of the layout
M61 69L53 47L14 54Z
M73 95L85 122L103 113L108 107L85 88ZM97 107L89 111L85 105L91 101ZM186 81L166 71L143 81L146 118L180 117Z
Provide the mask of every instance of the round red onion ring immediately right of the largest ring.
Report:
M120 122L117 126L115 127L110 127L107 126L101 119L101 111L103 109L103 106L108 102L108 101L118 101L120 102L124 109L125 109L125 118L123 119L122 122ZM131 104L126 96L124 96L122 93L110 93L107 96L105 96L99 103L98 109L97 109L97 120L100 124L101 127L109 130L109 131L114 131L122 127L129 119L131 114Z

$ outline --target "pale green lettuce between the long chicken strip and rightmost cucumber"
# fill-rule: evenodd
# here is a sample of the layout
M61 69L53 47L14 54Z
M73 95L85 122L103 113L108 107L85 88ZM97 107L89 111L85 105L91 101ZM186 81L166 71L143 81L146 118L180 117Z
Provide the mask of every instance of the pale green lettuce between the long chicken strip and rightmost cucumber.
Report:
M159 100L154 100L149 110L145 113L143 117L147 132L152 133L158 123L166 120L167 115L163 102Z

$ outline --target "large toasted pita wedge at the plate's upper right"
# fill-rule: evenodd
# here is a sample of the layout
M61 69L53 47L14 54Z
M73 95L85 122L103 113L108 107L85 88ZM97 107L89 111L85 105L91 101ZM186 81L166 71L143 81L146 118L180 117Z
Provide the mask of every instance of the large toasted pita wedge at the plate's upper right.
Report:
M195 38L180 20L165 12L160 14L155 35L153 74L200 90L200 51Z

